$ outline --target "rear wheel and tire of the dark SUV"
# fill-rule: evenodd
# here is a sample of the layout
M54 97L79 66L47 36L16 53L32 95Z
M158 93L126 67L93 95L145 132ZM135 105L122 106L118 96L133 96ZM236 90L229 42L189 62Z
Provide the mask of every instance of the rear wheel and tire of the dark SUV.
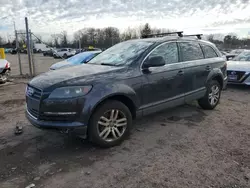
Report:
M207 84L207 91L203 98L198 100L201 108L205 110L214 109L220 101L221 85L217 80L211 80Z

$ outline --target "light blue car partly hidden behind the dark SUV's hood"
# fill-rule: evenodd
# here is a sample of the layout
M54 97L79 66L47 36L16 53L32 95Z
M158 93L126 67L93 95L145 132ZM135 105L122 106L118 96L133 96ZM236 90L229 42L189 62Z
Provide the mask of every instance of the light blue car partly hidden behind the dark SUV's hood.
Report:
M81 65L83 63L88 62L89 60L91 60L93 57L97 56L100 53L101 53L101 51L79 53L79 54L74 55L74 56L72 56L64 61L53 64L50 67L50 70L56 70L56 69L71 67L71 66L75 66L75 65Z

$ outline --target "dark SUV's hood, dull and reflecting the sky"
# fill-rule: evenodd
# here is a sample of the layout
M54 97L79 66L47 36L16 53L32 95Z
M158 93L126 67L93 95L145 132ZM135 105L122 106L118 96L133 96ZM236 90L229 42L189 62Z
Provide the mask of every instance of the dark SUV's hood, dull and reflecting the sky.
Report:
M83 64L79 66L73 66L66 69L58 69L55 71L49 71L33 78L29 84L39 89L47 89L53 85L63 84L66 82L78 83L78 80L82 83L84 81L94 80L95 77L101 76L101 74L110 74L110 72L124 69L124 67L114 67L105 65L89 65ZM111 74L110 74L111 75ZM105 76L103 76L105 79Z

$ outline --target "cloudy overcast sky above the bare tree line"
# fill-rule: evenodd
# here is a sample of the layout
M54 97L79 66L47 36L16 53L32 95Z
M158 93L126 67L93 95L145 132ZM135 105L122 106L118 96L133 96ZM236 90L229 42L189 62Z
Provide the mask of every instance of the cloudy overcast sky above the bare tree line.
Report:
M250 31L249 0L0 0L0 34L24 29L29 18L34 33L69 34L84 27L121 30L148 22L186 33Z

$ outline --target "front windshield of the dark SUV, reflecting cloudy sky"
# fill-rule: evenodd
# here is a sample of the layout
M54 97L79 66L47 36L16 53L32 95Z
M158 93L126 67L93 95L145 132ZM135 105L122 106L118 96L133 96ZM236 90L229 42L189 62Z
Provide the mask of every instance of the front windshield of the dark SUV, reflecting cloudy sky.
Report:
M88 64L111 66L122 66L125 64L130 64L152 44L152 42L135 40L122 42L105 50L104 52L90 60Z

